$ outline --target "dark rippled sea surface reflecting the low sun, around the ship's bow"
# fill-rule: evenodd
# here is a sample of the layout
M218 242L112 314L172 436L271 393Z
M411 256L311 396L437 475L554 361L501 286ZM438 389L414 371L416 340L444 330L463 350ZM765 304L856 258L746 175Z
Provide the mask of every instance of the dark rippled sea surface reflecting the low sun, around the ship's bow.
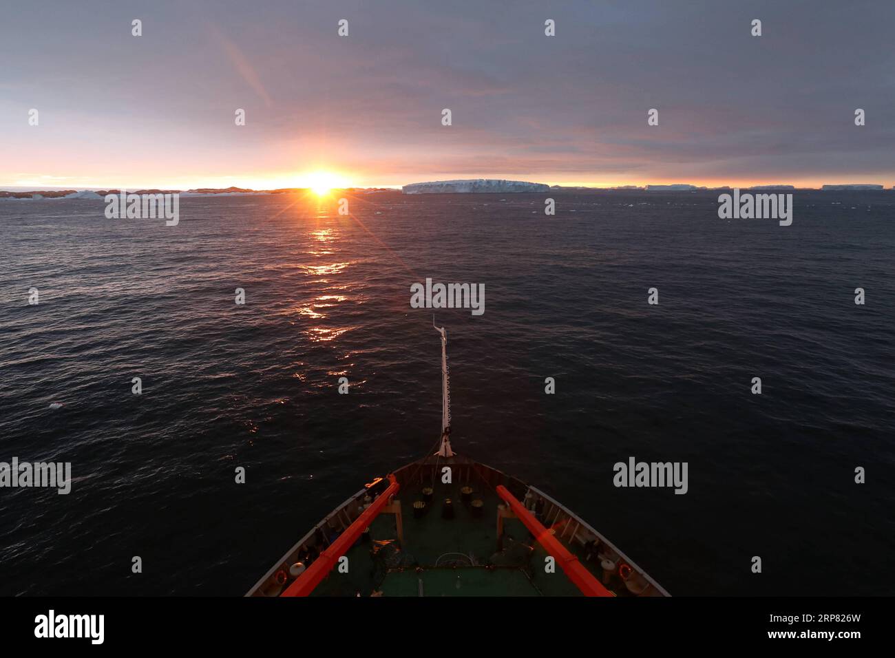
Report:
M550 195L184 197L172 227L0 201L0 461L74 479L0 489L0 594L244 594L438 440L427 277L486 290L436 313L458 452L671 594L893 594L895 192L797 192L788 227L717 192ZM689 491L614 487L628 457Z

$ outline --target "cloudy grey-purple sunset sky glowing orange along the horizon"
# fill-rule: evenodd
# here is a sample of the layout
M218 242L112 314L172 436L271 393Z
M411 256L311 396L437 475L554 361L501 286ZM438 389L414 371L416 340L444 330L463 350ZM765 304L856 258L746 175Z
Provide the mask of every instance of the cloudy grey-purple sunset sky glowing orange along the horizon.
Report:
M0 189L261 189L320 171L895 184L891 2L31 0L2 16Z

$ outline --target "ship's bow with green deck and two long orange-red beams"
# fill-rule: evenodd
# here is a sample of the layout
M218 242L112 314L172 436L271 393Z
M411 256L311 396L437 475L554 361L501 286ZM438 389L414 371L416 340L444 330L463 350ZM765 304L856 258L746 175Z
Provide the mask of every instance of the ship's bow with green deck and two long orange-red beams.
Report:
M451 483L441 482L444 471L451 471ZM340 544L339 563L328 568L322 580L314 580L311 596L583 595L558 560L553 571L545 568L549 553L529 530L532 522L538 532L552 535L558 549L571 552L609 594L669 595L582 518L490 466L468 457L432 456L399 468L389 478L397 487L394 494L379 498L384 486L377 482L388 483L378 479L368 484L304 535L247 595L283 594L294 582L287 575L290 566L310 568L334 542ZM514 499L516 510L500 498L499 486L503 495ZM464 495L465 488L472 491ZM442 514L447 499L452 501L452 517ZM423 500L429 504L422 516L415 515L414 504ZM373 501L377 509L371 520L351 536L357 537L363 527L366 531L345 550L342 534L361 521ZM516 517L519 510L530 517L528 526ZM330 558L335 559L335 553ZM609 564L605 572L603 564Z

